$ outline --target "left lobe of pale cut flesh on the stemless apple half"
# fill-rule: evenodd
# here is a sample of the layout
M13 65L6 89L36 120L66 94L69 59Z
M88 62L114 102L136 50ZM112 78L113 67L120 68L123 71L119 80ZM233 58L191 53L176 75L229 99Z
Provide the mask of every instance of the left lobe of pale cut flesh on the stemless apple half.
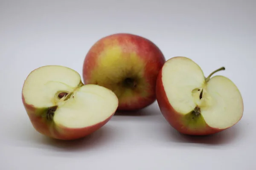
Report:
M58 94L72 92L83 85L78 72L61 65L36 68L26 78L22 94L26 103L39 108L58 104Z

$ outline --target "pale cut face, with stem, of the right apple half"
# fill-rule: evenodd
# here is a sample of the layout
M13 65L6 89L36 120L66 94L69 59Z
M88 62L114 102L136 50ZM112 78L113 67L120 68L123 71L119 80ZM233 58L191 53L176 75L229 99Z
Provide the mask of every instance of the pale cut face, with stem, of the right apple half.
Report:
M224 68L212 74L220 70ZM235 125L242 117L243 100L236 85L223 76L205 78L201 68L189 58L166 61L162 83L170 105L181 115L199 108L207 125L218 129Z

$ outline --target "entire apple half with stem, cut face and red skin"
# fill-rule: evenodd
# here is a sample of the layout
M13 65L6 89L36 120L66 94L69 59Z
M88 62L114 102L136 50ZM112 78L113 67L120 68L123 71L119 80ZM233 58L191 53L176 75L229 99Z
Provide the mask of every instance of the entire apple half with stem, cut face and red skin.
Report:
M156 86L160 111L172 127L189 135L208 135L235 125L243 115L243 99L227 77L204 77L186 57L173 57L161 69Z

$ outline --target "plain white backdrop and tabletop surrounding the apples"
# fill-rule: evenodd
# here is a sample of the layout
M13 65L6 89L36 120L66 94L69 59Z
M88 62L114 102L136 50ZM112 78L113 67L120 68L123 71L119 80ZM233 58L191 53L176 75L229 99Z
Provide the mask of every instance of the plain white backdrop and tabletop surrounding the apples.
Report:
M256 170L255 8L255 0L0 0L0 169ZM119 32L148 38L166 59L189 57L205 75L225 66L218 74L244 99L241 121L183 136L155 102L81 140L37 133L21 101L30 71L65 65L81 74L91 45Z

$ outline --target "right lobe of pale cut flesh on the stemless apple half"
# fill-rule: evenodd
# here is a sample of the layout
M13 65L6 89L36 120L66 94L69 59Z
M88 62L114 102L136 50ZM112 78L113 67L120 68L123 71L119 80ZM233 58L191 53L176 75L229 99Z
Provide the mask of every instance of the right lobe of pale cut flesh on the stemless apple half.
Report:
M99 85L84 85L55 111L55 124L68 128L96 125L111 117L118 107L118 98Z

